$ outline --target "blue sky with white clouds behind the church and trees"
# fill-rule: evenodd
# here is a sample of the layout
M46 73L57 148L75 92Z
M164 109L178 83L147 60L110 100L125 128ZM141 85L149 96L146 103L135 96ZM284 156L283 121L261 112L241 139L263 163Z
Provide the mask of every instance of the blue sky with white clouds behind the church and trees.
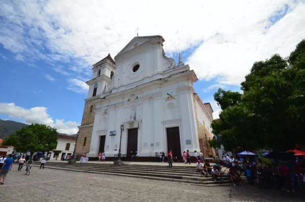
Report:
M181 52L210 102L240 91L256 61L286 57L305 38L305 1L1 1L0 119L75 134L92 65L136 36L161 35L165 53Z

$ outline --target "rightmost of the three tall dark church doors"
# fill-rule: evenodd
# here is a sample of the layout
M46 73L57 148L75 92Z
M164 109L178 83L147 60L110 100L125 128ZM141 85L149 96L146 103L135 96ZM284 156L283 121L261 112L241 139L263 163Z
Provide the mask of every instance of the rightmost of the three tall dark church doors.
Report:
M167 150L171 150L173 157L176 156L182 162L179 127L166 128ZM166 152L168 152L166 151Z

